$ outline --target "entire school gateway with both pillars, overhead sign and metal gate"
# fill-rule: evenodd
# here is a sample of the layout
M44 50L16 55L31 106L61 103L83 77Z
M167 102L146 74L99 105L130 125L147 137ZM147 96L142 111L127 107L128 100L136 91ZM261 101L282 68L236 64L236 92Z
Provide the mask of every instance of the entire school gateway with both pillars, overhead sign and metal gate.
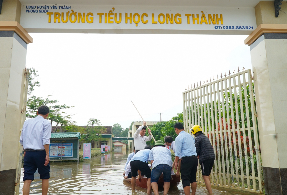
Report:
M56 3L47 0L0 0L0 192L3 194L19 192L20 169L18 167L20 166L19 154L22 150L19 146L19 136L25 120L27 96L26 52L27 44L33 42L28 32L50 32L249 35L245 44L250 45L251 50L256 107L250 106L251 112L246 111L246 114L242 116L241 112L245 109L243 105L248 104L248 100L246 102L247 94L252 96L252 92L248 92L252 88L251 80L249 80L250 71L249 73L240 73L245 75L247 80L244 80L241 75L234 74L233 77L226 77L228 78L226 81L221 80L222 78L216 82L213 81L211 89L209 79L206 86L210 91L206 91L207 87L205 86L205 95L199 93L199 98L204 97L203 103L201 100L197 100L198 91L194 96L189 94L189 98L196 98L196 100L191 100L188 96L184 100L188 100L189 104L199 106L200 109L204 105L203 110L208 108L207 115L205 111L200 111L198 115L198 111L193 110L191 112L194 113L193 116L188 113L185 116L185 125L188 130L191 124L200 122L202 125L203 122L205 133L210 135L212 143L215 142L219 145L216 146L218 163L214 167L213 183L262 192L263 186L261 186L262 180L259 174L261 154L266 194L287 194L287 178L285 177L287 173L287 124L285 119L287 115L285 55L287 51L287 14L280 11L280 9L286 8L287 3L284 2L280 5L281 1L106 0L103 2L100 0L59 0ZM236 80L239 77L240 82L238 80L237 83L236 81L233 83L234 85L232 83L229 85L232 78ZM215 89L213 85L215 85ZM232 88L232 86L234 87ZM232 115L233 112L229 108L231 109L236 102L234 100L231 104L232 98L229 98L230 100L225 100L225 98L226 95L229 97L228 94L235 93L235 88L243 93L241 96L239 91L237 96L234 94L234 98L235 96L237 100L239 98L239 102L237 109L236 106L233 107L235 114ZM211 97L214 94L216 96ZM209 100L205 99L207 97ZM204 100L206 100L205 103ZM250 100L250 102L253 101L252 98ZM209 102L220 106L213 106L213 109L209 109L205 106L205 104L213 105ZM229 104L232 106L228 107L227 102L228 106ZM242 106L243 108L241 108ZM219 108L220 112L217 110ZM255 109L257 117L254 116ZM214 110L213 116L217 116L217 119L208 116L208 110L210 114ZM230 113L231 116L228 116L227 113ZM249 120L246 116L247 113L250 113ZM205 120L203 114L209 120ZM196 118L193 118L195 115ZM230 117L231 121L227 122L226 120L229 120ZM243 121L243 118L247 118L247 120ZM258 125L255 124L255 118L257 118ZM191 121L187 122L187 119ZM245 122L247 124L243 125ZM255 140L256 125L260 138L257 141ZM253 140L250 139L250 134L251 137L254 136ZM243 147L240 147L239 141L238 145L237 143L234 145L234 138L237 136L238 139L239 135L243 136ZM257 143L259 141L261 153L258 151ZM258 146L254 151L253 145ZM236 155L234 151L238 151L239 155ZM256 165L254 165L255 159ZM233 165L229 163L230 160L234 161ZM253 164L249 164L249 161ZM242 168L243 164L245 164L245 169ZM199 178L199 182L201 181Z

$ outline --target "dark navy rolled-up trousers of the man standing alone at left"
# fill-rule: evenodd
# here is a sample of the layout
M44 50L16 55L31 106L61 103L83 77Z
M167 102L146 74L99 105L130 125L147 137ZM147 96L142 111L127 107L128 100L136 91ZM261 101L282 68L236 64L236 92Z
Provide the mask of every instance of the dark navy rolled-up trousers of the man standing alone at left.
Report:
M34 180L34 173L38 169L40 174L40 179L49 179L50 178L50 162L45 166L46 161L46 151L35 151L30 152L26 151L24 157L24 177L25 180Z

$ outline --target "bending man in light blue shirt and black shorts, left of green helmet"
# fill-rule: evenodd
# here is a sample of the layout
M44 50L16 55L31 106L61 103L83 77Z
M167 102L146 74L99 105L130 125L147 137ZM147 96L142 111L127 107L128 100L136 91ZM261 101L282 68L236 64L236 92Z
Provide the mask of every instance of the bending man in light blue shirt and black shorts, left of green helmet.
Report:
M131 164L131 186L135 190L135 178L137 173L139 173L138 178L141 178L141 172L148 178L148 194L152 191L152 185L150 184L150 174L151 170L148 166L148 157L150 155L150 150L152 147L146 146L143 150L138 151L130 161ZM140 170L140 171L139 171Z

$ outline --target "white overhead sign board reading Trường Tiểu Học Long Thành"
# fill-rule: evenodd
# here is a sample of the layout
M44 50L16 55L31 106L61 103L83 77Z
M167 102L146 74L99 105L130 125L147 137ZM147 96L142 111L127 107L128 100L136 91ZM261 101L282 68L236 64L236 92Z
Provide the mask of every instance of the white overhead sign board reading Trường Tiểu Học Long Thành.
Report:
M28 32L246 34L257 26L250 7L22 4Z

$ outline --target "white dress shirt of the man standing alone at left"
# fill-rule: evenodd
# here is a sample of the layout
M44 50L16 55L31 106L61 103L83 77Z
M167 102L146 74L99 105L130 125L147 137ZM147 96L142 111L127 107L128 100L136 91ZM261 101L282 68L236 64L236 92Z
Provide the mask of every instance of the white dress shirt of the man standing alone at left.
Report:
M50 144L51 132L51 122L38 115L24 122L20 143L24 150L44 150L44 145Z

